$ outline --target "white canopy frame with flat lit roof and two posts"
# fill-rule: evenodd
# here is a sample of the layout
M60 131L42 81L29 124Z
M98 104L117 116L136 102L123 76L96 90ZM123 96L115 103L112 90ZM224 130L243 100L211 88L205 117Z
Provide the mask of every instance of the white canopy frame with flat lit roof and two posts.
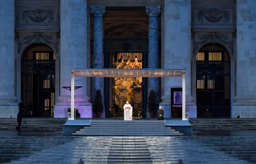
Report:
M75 120L75 77L182 77L182 120L186 115L186 69L71 69L71 118Z

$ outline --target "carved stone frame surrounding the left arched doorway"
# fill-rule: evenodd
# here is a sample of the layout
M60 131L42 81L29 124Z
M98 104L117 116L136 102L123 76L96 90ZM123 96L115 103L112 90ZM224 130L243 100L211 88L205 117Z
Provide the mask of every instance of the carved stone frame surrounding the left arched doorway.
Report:
M15 95L21 100L21 57L23 51L31 44L43 43L52 48L55 54L55 102L60 94L60 33L15 31Z

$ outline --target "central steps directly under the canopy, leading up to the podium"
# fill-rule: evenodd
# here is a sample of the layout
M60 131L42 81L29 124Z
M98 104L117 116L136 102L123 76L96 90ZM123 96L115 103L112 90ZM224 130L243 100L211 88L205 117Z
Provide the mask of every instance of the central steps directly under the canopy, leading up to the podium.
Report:
M170 127L165 121L157 120L91 120L90 126L72 133L80 136L177 136L183 135Z

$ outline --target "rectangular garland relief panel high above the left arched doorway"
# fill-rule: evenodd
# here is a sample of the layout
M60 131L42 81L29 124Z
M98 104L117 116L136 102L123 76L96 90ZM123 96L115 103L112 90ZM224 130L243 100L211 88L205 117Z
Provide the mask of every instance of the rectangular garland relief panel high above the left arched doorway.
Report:
M15 12L15 28L60 27L59 7L16 7Z

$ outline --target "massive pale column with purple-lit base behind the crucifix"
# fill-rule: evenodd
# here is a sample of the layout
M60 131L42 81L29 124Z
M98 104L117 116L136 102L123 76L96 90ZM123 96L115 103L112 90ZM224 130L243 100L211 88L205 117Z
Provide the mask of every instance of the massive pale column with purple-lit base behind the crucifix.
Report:
M71 85L71 68L87 68L87 1L60 1L60 96L54 106L54 117L67 117L71 106L70 91L61 87ZM81 118L91 118L92 110L87 96L87 79L75 77L75 107Z

